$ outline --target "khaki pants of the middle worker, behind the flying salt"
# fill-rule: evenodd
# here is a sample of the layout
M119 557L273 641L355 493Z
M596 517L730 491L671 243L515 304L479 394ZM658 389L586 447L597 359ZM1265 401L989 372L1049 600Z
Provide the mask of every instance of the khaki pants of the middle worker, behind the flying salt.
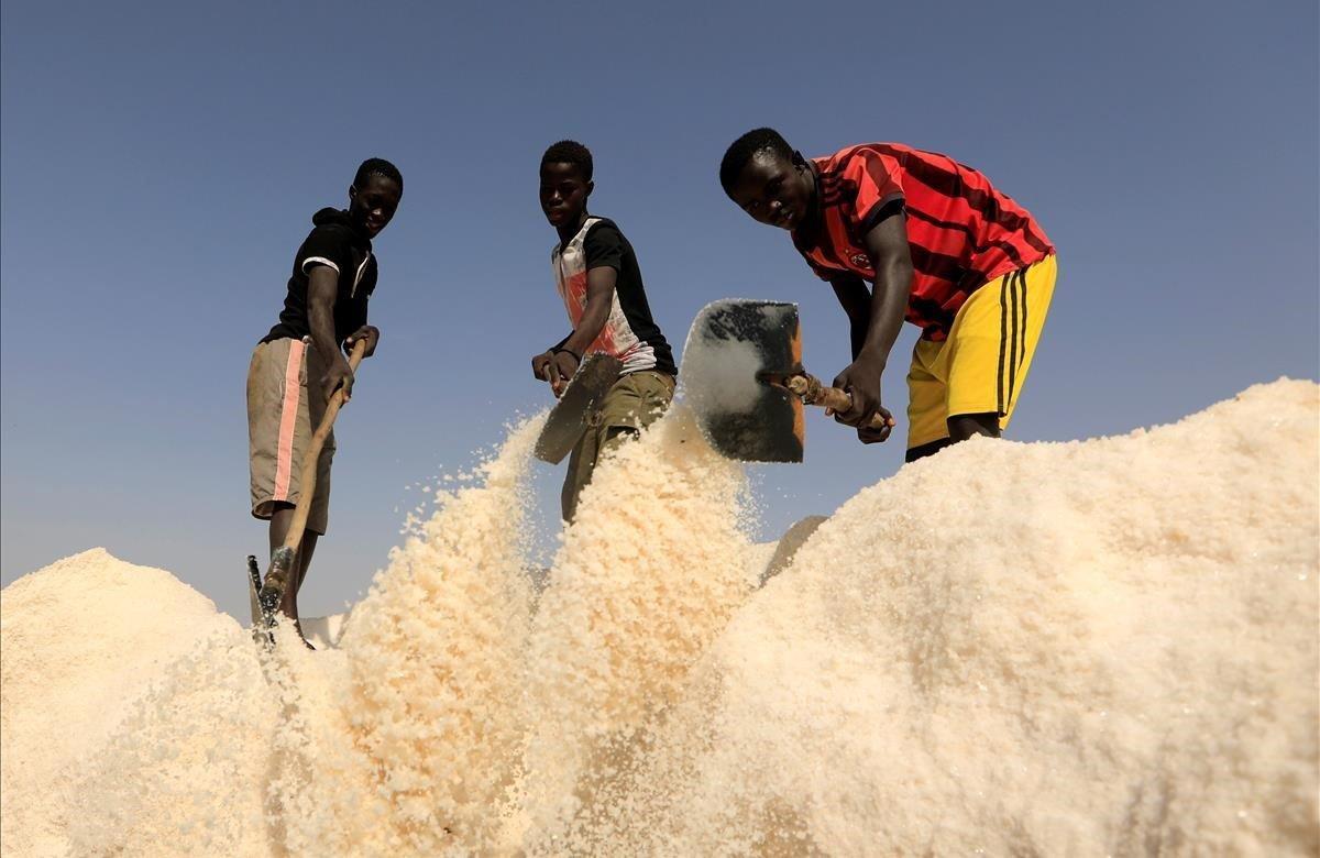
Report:
M569 457L560 495L565 521L573 520L578 496L591 482L597 462L660 418L673 400L673 384L672 375L653 370L630 372L614 383Z

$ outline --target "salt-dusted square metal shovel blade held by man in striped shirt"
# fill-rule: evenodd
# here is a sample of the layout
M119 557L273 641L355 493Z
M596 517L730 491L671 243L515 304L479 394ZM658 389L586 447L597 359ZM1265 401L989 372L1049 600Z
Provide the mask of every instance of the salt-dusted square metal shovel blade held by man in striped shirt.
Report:
M718 453L743 462L801 462L803 403L766 380L801 371L796 304L725 298L692 322L680 378Z

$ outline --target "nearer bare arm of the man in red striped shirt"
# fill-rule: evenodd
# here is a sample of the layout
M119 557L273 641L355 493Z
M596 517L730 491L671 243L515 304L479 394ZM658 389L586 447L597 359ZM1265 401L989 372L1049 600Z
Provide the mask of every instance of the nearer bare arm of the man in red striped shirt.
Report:
M850 426L865 426L876 412L883 413L890 425L873 433L861 429L858 437L863 442L883 441L892 428L892 417L880 407L880 376L890 359L890 350L898 339L912 293L912 256L908 251L907 230L902 216L888 216L866 234L866 252L875 268L875 289L871 294L870 312L866 315L866 330L861 347L854 348L857 358L836 379L834 387L853 393L853 408L837 414L840 422ZM836 293L837 293L836 288ZM842 297L840 298L842 302Z

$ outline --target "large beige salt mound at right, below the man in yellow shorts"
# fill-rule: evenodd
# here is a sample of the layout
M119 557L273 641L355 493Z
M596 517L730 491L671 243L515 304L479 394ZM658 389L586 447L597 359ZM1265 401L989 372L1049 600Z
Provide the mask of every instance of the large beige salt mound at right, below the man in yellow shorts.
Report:
M1317 388L862 491L576 846L1315 855Z

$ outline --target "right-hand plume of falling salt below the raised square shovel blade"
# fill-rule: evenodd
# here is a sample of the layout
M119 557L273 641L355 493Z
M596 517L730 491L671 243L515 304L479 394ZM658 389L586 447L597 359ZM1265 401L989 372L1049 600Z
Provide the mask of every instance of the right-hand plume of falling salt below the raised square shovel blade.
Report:
M690 665L751 595L742 500L741 467L706 446L681 407L583 491L528 652L519 810L536 842L561 836L619 744L677 698Z

